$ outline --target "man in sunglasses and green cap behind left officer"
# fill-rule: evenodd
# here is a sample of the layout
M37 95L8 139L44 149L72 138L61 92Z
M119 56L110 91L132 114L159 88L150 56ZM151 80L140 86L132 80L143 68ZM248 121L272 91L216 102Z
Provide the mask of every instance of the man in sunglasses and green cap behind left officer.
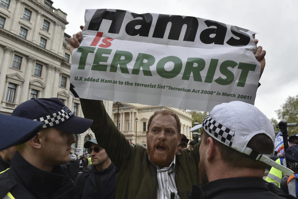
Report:
M75 182L80 197L114 199L117 171L106 150L98 146L96 139L86 141L84 148L90 154L92 164L84 168Z

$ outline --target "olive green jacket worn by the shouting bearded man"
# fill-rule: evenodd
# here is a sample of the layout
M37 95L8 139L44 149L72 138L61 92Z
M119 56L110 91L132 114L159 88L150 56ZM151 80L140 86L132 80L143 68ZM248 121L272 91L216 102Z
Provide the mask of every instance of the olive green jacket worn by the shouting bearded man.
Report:
M93 120L90 128L98 145L106 149L117 168L115 198L157 198L157 169L149 161L147 149L141 145L130 145L106 113L102 101L80 101L85 118ZM195 145L193 150L183 149L176 154L175 183L181 199L190 198L192 184L199 183L199 160L199 145Z

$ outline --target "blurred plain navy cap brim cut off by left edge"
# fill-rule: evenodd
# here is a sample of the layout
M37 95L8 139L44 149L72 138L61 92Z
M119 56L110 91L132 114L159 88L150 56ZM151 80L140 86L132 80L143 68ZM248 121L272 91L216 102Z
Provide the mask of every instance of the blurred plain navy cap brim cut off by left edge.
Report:
M30 140L43 129L43 123L0 114L0 127L0 150L3 150Z

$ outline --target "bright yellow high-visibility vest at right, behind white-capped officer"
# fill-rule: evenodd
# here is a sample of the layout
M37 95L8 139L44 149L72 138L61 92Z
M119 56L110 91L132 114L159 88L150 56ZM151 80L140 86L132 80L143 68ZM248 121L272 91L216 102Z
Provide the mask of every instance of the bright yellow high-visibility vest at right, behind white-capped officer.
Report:
M278 158L275 162L278 164L281 164L283 166L287 166L287 162L285 158ZM286 178L286 174L282 173L282 171L272 167L266 177L267 182L272 182L276 186L280 188L280 182L282 182L282 179Z

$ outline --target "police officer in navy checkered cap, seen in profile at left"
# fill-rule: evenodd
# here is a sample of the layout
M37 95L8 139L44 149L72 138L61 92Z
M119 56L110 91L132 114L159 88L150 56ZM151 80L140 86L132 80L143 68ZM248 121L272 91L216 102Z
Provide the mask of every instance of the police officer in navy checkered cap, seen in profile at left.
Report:
M56 165L70 161L73 133L84 133L92 120L74 116L58 98L31 99L12 115L40 121L43 129L16 146L11 167L0 175L0 198L78 198L74 183Z

